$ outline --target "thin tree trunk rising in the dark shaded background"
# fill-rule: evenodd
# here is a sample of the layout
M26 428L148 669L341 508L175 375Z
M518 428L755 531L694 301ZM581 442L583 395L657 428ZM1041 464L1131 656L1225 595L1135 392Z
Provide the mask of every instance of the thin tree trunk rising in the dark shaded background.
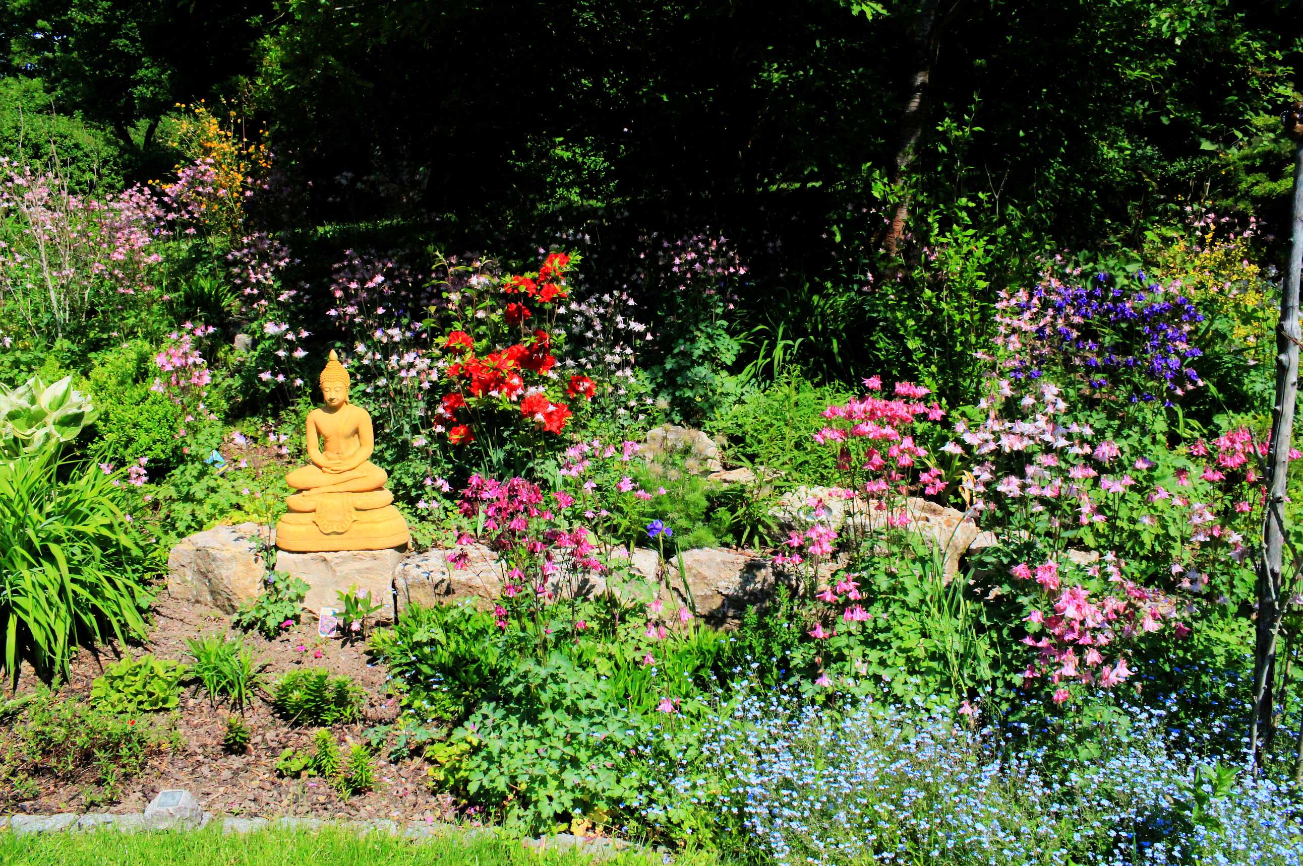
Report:
M932 83L932 65L937 60L937 48L941 43L941 33L946 21L954 14L963 0L950 0L942 12L941 0L921 0L919 10L909 21L909 46L913 52L909 73L909 86L906 91L904 111L900 113L900 134L896 139L895 159L891 165L891 186L896 191L895 211L891 215L891 224L887 227L883 245L887 251L895 254L900 238L904 236L904 224L909 219L909 204L912 197L906 180L915 156L919 154L919 142L923 141L923 130L928 122L928 90Z

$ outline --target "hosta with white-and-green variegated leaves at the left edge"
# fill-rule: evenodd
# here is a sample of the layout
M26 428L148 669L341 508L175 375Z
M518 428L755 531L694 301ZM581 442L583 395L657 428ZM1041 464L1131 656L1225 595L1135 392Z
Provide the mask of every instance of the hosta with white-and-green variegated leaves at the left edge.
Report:
M0 384L0 458L72 441L95 421L90 398L73 391L72 383L72 376L64 376L48 385L39 378L13 389Z

